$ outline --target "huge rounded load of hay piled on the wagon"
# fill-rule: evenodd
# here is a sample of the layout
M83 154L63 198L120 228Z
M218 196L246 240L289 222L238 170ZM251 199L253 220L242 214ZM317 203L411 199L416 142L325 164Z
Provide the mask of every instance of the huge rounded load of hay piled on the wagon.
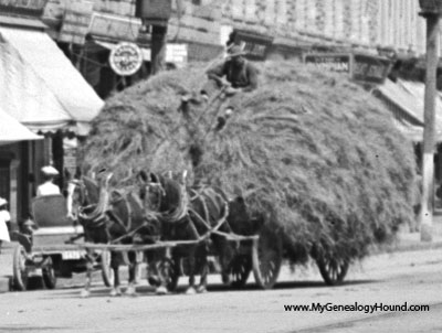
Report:
M200 67L201 68L201 67ZM267 63L261 85L215 130L227 104L190 105L203 69L162 73L116 94L94 122L83 168L114 172L127 187L139 170L190 171L192 180L244 196L284 234L294 262L315 246L346 259L409 223L412 146L389 111L345 75Z

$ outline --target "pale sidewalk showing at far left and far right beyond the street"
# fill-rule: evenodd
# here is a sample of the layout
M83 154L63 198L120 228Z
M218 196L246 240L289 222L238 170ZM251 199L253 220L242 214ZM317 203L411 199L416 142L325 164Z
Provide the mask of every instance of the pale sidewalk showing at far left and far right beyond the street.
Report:
M403 227L398 233L398 240L389 246L386 246L383 251L400 253L428 250L442 248L442 212L439 211L433 217L433 240L423 243L420 239L420 233L410 233L408 227ZM13 250L18 243L3 243L0 254L0 293L9 291L10 279L12 278L12 260ZM373 251L376 255L379 250Z

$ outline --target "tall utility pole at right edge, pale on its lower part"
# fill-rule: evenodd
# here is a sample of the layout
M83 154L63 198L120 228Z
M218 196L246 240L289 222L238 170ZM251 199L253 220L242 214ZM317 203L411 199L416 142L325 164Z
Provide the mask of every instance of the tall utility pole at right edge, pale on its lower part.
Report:
M422 155L421 241L433 238L434 196L434 118L436 98L436 68L439 62L439 19L442 1L420 0L421 15L427 20L427 68L424 98L424 128Z

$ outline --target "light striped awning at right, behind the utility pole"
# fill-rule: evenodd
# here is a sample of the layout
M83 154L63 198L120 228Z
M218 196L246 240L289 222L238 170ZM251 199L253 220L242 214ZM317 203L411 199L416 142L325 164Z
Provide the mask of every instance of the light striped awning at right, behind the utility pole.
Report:
M397 128L413 141L423 139L424 92L424 84L402 79L396 83L386 79L385 84L373 92L393 112ZM441 94L436 97L435 139L438 142L442 141Z

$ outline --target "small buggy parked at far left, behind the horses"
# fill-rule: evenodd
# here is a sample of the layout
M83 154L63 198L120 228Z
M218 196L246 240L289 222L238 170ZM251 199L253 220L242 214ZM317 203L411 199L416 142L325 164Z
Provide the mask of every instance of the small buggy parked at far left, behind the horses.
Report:
M48 289L55 288L57 277L72 277L86 269L83 227L73 226L66 217L63 195L46 195L32 201L32 215L36 227L25 226L15 232L19 241L13 253L12 287L27 290L30 278L41 278Z

